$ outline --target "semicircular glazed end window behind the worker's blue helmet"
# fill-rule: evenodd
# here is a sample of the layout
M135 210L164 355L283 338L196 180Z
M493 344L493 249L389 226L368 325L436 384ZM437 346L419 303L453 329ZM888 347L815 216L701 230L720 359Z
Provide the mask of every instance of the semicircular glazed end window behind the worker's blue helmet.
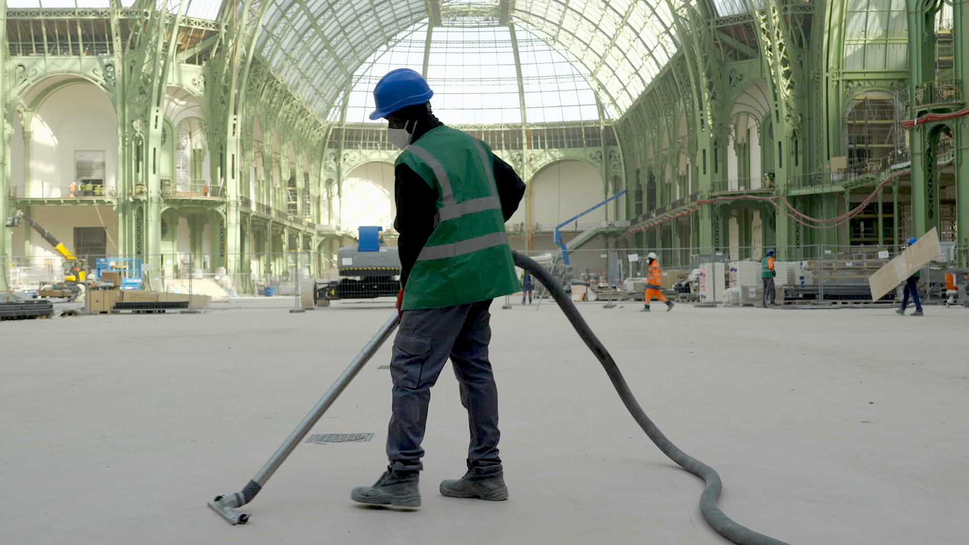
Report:
M427 30L427 23L422 22L390 48L381 48L367 59L354 78L348 122L368 121L366 115L374 109L373 88L392 69L422 72L425 49L427 82L435 93L431 103L435 114L446 123L599 119L596 95L579 71L581 65L521 25L439 27L431 30L429 43ZM515 46L520 60L520 89ZM339 120L339 113L331 112L331 120Z

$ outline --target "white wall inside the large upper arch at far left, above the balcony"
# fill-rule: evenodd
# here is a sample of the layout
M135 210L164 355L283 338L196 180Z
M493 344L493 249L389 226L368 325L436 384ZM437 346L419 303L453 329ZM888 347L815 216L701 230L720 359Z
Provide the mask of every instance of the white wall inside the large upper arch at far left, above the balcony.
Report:
M91 83L57 89L34 115L31 130L32 195L68 195L76 181L75 151L104 151L105 188L117 187L117 120L105 91Z

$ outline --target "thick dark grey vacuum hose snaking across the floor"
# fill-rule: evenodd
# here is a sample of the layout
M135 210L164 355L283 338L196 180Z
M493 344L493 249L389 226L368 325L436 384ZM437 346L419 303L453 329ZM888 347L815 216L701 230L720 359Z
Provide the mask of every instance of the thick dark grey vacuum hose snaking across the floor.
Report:
M660 429L643 412L640 402L636 401L636 397L633 396L633 392L629 389L629 385L626 384L626 379L622 377L622 372L615 365L615 361L612 360L609 351L606 350L606 347L603 346L599 338L589 329L588 324L582 319L581 314L578 313L578 308L576 308L576 305L573 305L572 299L565 293L565 290L558 285L545 267L542 267L532 259L518 252L514 252L514 254L516 266L531 272L532 275L548 288L549 293L555 298L555 303L558 303L562 311L565 312L566 317L572 322L572 326L576 328L578 337L582 337L585 345L592 350L592 353L599 359L599 363L606 369L606 374L609 375L616 393L619 394L619 398L626 405L629 414L636 419L642 431L649 436L653 443L670 460L706 482L703 495L700 497L700 511L703 513L703 519L706 520L706 524L710 525L720 535L739 545L787 545L783 541L736 524L717 507L717 498L720 497L720 491L723 488L720 482L720 475L709 465L703 464L703 462L676 448L676 445L672 444L670 439L660 432Z

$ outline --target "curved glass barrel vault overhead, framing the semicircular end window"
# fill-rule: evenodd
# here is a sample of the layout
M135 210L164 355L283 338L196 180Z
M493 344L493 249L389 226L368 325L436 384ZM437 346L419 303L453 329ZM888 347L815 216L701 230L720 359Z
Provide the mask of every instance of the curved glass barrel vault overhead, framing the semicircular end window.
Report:
M677 50L666 0L270 1L261 55L329 118L359 68L423 20L434 32L462 18L516 24L578 61L609 117L625 112Z

